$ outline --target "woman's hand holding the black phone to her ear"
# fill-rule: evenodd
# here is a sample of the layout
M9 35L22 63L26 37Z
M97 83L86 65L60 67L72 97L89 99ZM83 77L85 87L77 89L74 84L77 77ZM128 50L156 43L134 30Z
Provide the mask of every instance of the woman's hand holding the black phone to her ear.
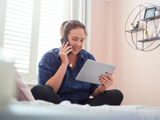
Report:
M72 46L68 46L68 47L67 46L68 46L68 42L66 44L64 42L60 49L59 56L61 58L62 64L68 65L69 60L68 60L67 54L71 52L73 49L72 49Z

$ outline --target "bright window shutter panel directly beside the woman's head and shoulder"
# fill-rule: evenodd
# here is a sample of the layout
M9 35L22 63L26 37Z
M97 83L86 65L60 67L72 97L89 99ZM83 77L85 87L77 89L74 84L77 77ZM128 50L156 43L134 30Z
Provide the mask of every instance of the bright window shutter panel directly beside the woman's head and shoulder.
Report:
M63 21L64 2L55 1L43 0L41 4L37 65L44 52L60 47L60 25Z

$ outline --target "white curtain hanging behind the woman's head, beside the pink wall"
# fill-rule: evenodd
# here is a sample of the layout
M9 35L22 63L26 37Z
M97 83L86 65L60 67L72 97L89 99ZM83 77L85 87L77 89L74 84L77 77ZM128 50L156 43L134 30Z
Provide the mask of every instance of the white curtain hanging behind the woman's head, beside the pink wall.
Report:
M87 38L84 49L90 52L91 38L91 0L71 0L70 1L70 19L79 20L86 26Z

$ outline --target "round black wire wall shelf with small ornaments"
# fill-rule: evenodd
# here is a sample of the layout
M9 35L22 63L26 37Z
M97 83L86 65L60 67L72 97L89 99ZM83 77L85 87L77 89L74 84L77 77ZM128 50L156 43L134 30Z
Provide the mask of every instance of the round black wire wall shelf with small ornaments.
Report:
M129 16L127 18L127 21L126 21L126 24L125 24L125 37L126 37L127 43L133 49L149 52L149 51L152 51L152 50L154 50L154 49L156 49L157 47L160 46L160 44L158 44L158 45L154 44L153 45L153 43L155 41L160 40L160 37L158 37L158 36L157 37L148 38L148 39L143 39L143 36L145 34L145 30L148 30L148 27L151 26L151 27L154 27L154 30L157 30L157 31L160 30L158 28L158 23L160 21L160 15L159 16L154 16L154 17L148 17L148 18L142 18L144 15L141 15L143 13L143 11L145 11L145 13L146 13L147 9L155 8L155 7L156 7L156 9L160 8L160 6L156 6L156 5L153 5L151 3L140 4L140 5L136 6L131 11L131 13L129 14ZM134 17L134 19L132 17L131 19L133 21L128 24L128 20L129 20L131 14L136 9L138 9L139 12L136 11L137 15ZM139 18L139 20L137 20L138 18ZM155 22L156 20L157 20L157 23ZM134 24L135 21L137 21L136 27L139 26L138 29L135 29L135 30L126 29L128 27L128 25L130 25L131 23ZM149 21L151 21L151 24L148 25ZM130 40L127 39L127 37L129 37L128 34L130 34ZM146 42L149 42L149 43L145 44ZM158 42L156 42L156 43L158 43Z

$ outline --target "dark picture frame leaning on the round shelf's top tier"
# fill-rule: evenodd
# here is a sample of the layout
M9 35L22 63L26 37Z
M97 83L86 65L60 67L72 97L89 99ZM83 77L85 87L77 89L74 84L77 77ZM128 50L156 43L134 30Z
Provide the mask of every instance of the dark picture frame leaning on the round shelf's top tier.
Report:
M156 7L146 8L144 13L144 19L154 17L156 9Z

